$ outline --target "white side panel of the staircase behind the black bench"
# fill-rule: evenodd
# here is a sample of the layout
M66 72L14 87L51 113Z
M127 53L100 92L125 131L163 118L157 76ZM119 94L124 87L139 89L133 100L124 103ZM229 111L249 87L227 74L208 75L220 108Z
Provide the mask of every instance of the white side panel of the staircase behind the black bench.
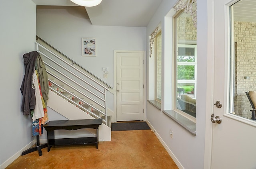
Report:
M70 102L58 96L56 93L52 92L51 90L49 90L49 100L47 100L47 106L69 120L93 118L92 116L80 110L73 104L70 104ZM87 130L92 134L96 135L96 132L94 129L87 129ZM99 136L99 141L111 141L111 128L102 123L99 126L98 136Z

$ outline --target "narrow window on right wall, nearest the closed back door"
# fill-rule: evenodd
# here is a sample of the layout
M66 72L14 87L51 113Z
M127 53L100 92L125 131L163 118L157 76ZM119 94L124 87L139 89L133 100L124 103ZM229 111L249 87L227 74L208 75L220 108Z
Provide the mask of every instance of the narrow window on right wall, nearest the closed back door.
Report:
M159 31L155 38L155 100L161 102L162 82L162 32Z

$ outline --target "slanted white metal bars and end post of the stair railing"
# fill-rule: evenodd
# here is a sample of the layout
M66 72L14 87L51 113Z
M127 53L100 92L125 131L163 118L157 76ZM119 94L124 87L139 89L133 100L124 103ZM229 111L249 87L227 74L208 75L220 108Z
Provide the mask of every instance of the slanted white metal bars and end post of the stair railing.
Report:
M42 40L42 39L40 39ZM42 40L43 41L43 40ZM44 42L46 43L46 42ZM48 43L46 43L47 45L49 45ZM50 46L50 45L49 45ZM44 52L40 51L40 49L44 49L44 51L50 53L51 55L53 55L54 57L57 58L57 60L52 59L51 57L49 57L48 55L46 55ZM56 50L54 47L50 46L49 49L53 49ZM80 93L82 96L85 96L86 98L88 98L89 100L91 100L92 102L94 102L95 104L97 104L98 106L104 108L105 112L103 112L102 110L99 110L97 107L91 105L90 103L84 101L83 99L79 98L78 96L76 96L75 94L73 94L72 92L69 92L68 89L66 88L62 88L60 85L57 85L57 83L51 81L49 79L49 81L53 84L56 84L57 86L59 86L59 88L61 88L62 90L68 92L70 95L76 97L78 100L84 102L85 104L87 104L88 106L94 108L95 110L97 110L100 114L105 116L105 119L103 119L103 121L105 122L105 124L108 124L108 116L107 116L107 91L109 91L109 85L104 86L101 83L99 83L98 81L94 80L92 77L90 77L89 75L86 75L86 73L84 73L83 71L81 71L78 68L82 68L80 65L78 65L79 67L75 67L74 66L74 62L69 59L68 57L66 57L65 55L63 55L62 53L60 53L59 51L57 51L58 53L60 53L61 55L63 55L64 57L66 57L66 59L69 59L70 62L72 62L72 64L70 64L68 61L66 61L65 59L61 58L60 56L56 55L53 51L50 51L48 48L44 47L43 45L41 45L40 43L36 42L36 50L38 51L38 53L40 53L40 55L46 57L49 61L51 61L52 63L54 63L54 65L57 65L58 67L62 68L64 71L70 73L70 75L72 75L72 77L77 78L79 81L85 83L86 85L90 86L90 88L92 88L93 90L95 90L96 92L100 93L103 95L104 98L102 98L101 96L98 96L98 94L94 93L93 91L89 90L88 88L86 88L85 86L81 85L80 83L76 82L74 79L68 77L67 75L65 75L64 73L60 72L58 69L54 68L52 65L50 65L49 63L47 63L46 61L44 61L44 64L49 67L51 70L55 71L56 73L58 73L58 75L61 75L63 77L65 77L66 79L68 79L70 82L76 84L77 86L81 87L82 89L86 90L87 92L89 92L90 94L92 94L93 96L95 96L96 98L98 98L99 100L101 100L102 102L104 102L104 105L101 104L100 102L98 102L97 100L93 99L92 97L88 96L87 94L85 94L84 92L80 91L78 88L66 83L63 79L60 79L59 77L57 77L56 75L54 75L53 73L51 73L49 70L47 70L47 73L49 75L51 75L52 77L58 79L60 82L64 83L65 85L67 85L68 87L76 90L76 92ZM80 75L83 75L84 77L86 77L88 80L91 81L91 83L95 83L95 85L98 85L98 88L94 85L92 85L90 82L87 82L85 79L83 79L82 77L80 77L79 75L76 75L75 73L73 73L72 71L70 71L71 69L66 69L66 67L64 67L63 65L61 65L60 63L58 63L59 61L62 61L62 63L65 63L67 66L69 66L70 68L74 69L75 71L77 71L78 73L80 73ZM82 68L82 70L86 71L84 68ZM88 71L86 71L88 72ZM90 73L90 72L88 72ZM90 75L92 75L90 73ZM94 75L92 75L94 77ZM97 78L98 79L98 78ZM106 84L106 83L104 83ZM49 86L50 87L50 86ZM51 88L51 87L50 87ZM104 91L100 90L99 88L102 88ZM53 89L53 88L51 88ZM54 89L53 89L54 90ZM54 92L57 92L56 90L54 90ZM71 100L70 98L64 96L63 94L61 94L60 92L58 92L58 95L62 96L63 98L65 98L66 100L69 100L70 102L72 102L72 104L75 104L76 106L79 106L82 110L85 110L86 112L90 112L89 110L87 110L86 108L84 108L83 106L81 106L80 104L77 104L76 102L74 102L74 100ZM90 112L90 114L92 114L94 117L96 118L101 118L100 116L94 114L93 112Z

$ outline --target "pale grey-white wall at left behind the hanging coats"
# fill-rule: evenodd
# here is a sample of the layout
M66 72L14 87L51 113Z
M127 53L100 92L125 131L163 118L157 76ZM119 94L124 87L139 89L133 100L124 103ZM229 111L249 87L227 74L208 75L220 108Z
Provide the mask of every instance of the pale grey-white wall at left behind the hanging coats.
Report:
M21 155L22 148L34 140L30 116L21 112L20 86L24 77L23 54L34 51L36 5L31 0L1 0L0 46L1 117L0 168Z

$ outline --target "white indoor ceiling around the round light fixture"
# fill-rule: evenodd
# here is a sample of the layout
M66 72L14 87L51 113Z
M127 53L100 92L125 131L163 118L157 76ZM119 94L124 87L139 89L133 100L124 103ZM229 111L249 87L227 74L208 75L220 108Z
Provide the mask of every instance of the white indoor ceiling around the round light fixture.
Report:
M36 5L78 6L70 0L32 0ZM86 7L92 25L146 27L162 0L102 0Z

